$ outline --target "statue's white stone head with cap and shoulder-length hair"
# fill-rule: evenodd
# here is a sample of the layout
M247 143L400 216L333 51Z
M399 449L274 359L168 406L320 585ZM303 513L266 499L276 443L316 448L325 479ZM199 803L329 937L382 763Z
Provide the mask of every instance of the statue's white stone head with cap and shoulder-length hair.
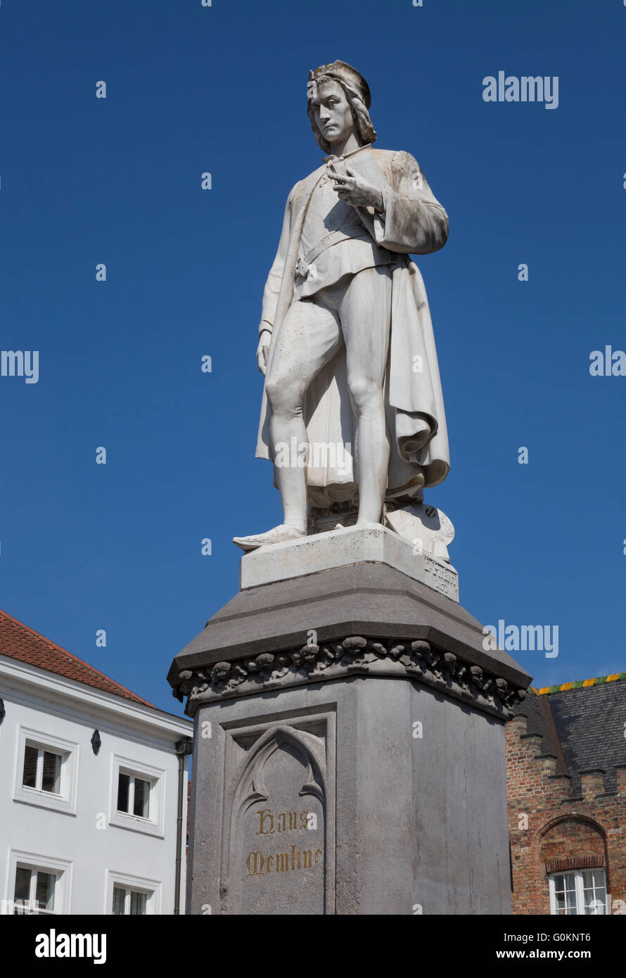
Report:
M368 111L370 86L356 68L333 62L309 71L306 97L313 135L325 153L331 152L331 143L351 132L362 146L374 143L376 131Z

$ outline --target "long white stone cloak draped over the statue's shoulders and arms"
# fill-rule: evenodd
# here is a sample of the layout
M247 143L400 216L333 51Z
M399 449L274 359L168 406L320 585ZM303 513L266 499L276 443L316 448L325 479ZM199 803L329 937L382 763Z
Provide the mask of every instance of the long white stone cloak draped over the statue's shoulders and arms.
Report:
M325 161L335 158L327 156ZM346 163L380 187L382 213L372 207L355 209L376 244L395 252L397 257L390 266L391 332L384 395L391 452L385 499L415 496L423 486L438 485L445 479L450 458L424 280L408 255L428 254L443 247L448 237L448 217L410 154L366 147L347 156ZM263 292L259 330L272 331L266 377L276 337L291 305L308 201L326 172L327 166L322 166L301 180L287 201L281 241ZM270 412L263 387L256 457L272 460ZM327 508L358 497L358 472L352 455L355 421L342 346L310 384L304 404L309 444L337 446L335 452L313 455L307 466L308 499L314 507Z

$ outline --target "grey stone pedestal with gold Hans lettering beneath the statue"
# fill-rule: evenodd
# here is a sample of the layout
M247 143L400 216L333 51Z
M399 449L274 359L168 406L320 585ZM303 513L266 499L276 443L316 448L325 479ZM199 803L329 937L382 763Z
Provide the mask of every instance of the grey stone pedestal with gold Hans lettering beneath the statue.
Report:
M456 600L354 556L245 587L172 663L191 913L510 912L503 728L530 677Z

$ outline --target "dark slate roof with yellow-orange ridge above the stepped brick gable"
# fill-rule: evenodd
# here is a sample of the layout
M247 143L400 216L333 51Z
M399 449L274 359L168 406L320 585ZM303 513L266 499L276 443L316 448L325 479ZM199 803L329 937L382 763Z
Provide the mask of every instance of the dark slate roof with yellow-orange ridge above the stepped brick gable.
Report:
M529 689L514 712L528 718L528 733L541 733L538 753L560 753L574 794L580 772L593 768L606 772L605 790L615 790L615 767L626 765L626 673Z

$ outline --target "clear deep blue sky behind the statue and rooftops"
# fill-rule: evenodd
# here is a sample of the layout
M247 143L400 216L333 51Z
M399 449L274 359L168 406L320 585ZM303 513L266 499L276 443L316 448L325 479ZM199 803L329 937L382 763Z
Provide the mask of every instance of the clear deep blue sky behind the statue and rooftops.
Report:
M462 603L559 626L558 657L516 655L537 685L626 670L626 378L589 372L626 349L625 36L620 0L5 0L0 348L39 379L0 377L0 606L179 711L165 674L237 591L231 537L280 521L260 298L320 162L307 73L340 58L450 216L419 260L452 459L426 500ZM559 107L485 103L499 70L558 76Z

